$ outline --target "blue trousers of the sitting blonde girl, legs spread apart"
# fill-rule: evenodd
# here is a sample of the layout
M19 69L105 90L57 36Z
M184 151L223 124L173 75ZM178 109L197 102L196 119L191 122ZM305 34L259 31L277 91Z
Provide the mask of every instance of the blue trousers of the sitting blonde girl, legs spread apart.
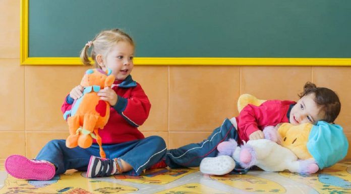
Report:
M151 136L142 140L134 140L121 144L102 145L106 158L121 158L133 169L124 174L138 176L164 157L166 144L161 137ZM90 156L100 156L99 146L93 144L87 149L80 147L67 148L66 140L52 140L39 152L36 160L46 160L56 167L56 174L68 169L86 171Z

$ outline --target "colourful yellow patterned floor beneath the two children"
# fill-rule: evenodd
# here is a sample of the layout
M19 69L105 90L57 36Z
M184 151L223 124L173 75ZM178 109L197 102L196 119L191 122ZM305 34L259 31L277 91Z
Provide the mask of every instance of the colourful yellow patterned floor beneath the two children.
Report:
M351 161L337 163L318 174L251 170L244 175L208 176L192 169L155 169L142 176L85 178L68 171L49 181L16 179L0 165L0 193L351 193Z

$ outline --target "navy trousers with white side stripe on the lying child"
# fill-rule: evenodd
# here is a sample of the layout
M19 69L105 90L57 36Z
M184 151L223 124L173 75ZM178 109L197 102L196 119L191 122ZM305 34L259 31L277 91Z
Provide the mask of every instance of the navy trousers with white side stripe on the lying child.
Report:
M226 118L207 140L168 150L165 162L170 168L199 166L203 158L217 156L217 145L229 139L238 141L238 133L230 120Z

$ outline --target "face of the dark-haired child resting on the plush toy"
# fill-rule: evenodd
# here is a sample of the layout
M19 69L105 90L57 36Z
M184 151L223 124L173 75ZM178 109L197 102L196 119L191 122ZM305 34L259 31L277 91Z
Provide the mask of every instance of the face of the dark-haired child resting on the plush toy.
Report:
M301 123L316 124L317 121L324 118L324 112L320 111L320 107L314 101L313 93L302 97L290 111L290 123L297 125Z

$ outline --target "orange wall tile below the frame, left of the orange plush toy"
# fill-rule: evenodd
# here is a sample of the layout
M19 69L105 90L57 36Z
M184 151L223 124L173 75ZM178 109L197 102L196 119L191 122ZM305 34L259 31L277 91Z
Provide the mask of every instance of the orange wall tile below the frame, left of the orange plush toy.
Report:
M72 88L80 84L87 68L26 66L27 131L68 131L61 105Z

